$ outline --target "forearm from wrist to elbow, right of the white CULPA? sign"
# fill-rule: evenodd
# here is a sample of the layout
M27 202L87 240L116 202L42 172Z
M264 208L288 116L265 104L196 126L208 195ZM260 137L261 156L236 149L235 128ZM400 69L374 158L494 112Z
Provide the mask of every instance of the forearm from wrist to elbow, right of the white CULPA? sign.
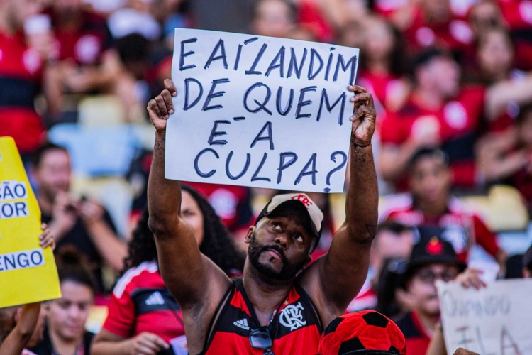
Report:
M379 204L372 145L362 148L352 143L350 160L345 224L351 238L367 244L375 237Z

